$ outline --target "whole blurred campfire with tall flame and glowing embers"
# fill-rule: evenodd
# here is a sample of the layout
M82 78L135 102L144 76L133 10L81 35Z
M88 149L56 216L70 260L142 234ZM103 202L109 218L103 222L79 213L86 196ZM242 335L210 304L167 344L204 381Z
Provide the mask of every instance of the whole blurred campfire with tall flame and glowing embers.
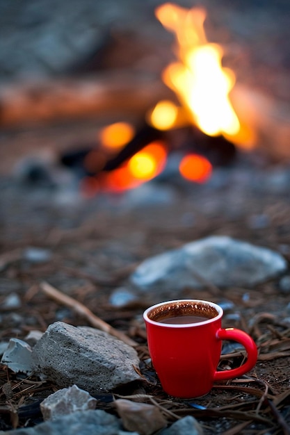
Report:
M86 195L99 190L118 192L136 188L159 175L174 147L170 135L165 134L172 130L191 129L192 149L197 129L209 141L207 147L214 144L210 138L223 138L244 150L256 145L255 132L239 120L232 104L235 75L232 69L223 67L223 48L207 40L204 8L188 10L165 3L155 13L161 24L175 34L177 60L166 67L162 78L175 92L179 104L166 99L147 110L145 122L147 129L153 128L153 140L150 137L145 143L136 141L131 124L117 122L105 126L99 133L102 151L90 151L84 161L90 173L82 181ZM200 143L198 152L184 152L179 158L181 176L195 183L206 182L213 169L206 154Z

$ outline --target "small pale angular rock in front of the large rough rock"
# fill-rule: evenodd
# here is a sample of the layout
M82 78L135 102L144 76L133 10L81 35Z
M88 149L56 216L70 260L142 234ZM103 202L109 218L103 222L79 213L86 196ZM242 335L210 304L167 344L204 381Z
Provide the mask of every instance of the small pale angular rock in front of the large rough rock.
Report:
M97 400L87 391L81 390L76 385L63 388L49 395L40 403L40 410L44 420L56 420L61 416L72 414L76 411L95 409Z

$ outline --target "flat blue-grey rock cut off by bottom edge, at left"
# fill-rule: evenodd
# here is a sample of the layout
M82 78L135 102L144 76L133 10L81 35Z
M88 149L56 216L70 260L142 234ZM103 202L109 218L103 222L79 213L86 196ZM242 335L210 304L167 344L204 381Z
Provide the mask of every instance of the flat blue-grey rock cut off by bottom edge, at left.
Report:
M124 432L121 422L115 416L97 409L95 411L76 411L69 416L54 421L40 423L26 429L12 429L1 435L138 435L136 432Z

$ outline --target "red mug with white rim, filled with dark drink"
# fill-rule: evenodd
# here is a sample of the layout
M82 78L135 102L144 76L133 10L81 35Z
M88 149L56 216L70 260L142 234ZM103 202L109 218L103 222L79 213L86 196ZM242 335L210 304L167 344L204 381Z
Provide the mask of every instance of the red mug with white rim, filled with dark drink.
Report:
M209 393L215 381L233 379L250 371L257 361L257 347L248 334L222 329L223 309L198 299L161 302L143 314L154 369L163 390L175 397ZM248 359L232 370L216 371L222 340L241 343Z

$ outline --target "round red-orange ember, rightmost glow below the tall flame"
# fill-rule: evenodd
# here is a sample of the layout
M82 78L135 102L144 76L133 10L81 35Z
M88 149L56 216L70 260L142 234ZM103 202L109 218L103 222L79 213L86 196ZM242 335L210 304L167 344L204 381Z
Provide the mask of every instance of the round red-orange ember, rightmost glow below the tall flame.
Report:
M199 154L188 154L179 165L182 176L196 183L204 183L211 177L212 166L207 158Z

